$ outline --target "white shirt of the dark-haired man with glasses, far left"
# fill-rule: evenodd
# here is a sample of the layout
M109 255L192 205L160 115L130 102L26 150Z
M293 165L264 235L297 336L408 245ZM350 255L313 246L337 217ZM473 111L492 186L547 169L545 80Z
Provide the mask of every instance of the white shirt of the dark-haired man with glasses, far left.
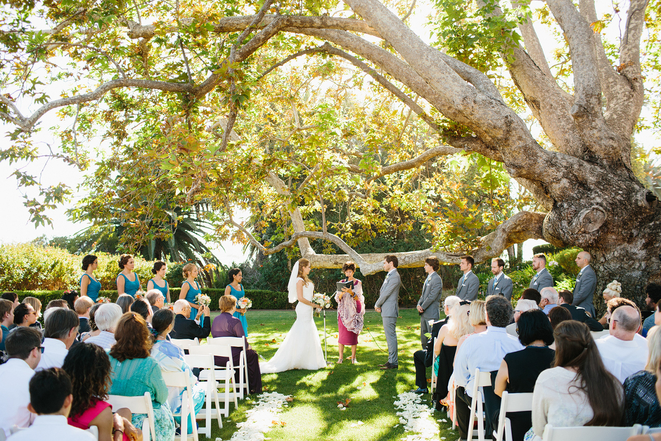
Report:
M11 426L27 427L34 419L28 411L32 375L34 371L20 358L10 358L0 365L0 429L5 430L5 436L9 436Z

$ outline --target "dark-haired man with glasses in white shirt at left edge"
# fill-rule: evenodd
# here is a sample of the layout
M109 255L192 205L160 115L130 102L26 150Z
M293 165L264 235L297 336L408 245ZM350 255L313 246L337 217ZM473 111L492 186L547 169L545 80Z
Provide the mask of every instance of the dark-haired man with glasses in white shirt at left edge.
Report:
M28 326L20 327L7 336L5 348L9 360L0 365L0 430L9 436L11 426L27 427L33 420L28 411L28 385L42 354L41 332ZM44 438L47 439L47 438Z

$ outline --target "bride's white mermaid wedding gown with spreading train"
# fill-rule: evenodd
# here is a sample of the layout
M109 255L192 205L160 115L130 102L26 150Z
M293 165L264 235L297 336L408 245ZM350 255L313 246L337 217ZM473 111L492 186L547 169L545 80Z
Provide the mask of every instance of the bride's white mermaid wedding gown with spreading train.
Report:
M303 279L300 277L296 279L297 282L299 280ZM314 292L314 283L309 282L307 286L303 284L303 297L306 300L312 301ZM287 333L273 358L259 364L262 373L283 372L290 369L316 370L326 367L312 311L313 308L304 303L299 302L296 305L296 321L293 322L290 332Z

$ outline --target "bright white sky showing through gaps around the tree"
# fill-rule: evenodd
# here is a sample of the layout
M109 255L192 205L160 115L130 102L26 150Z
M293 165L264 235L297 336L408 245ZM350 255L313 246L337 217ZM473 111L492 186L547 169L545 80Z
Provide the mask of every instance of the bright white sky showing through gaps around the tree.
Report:
M424 0L423 0L424 1ZM418 2L420 4L420 2ZM425 1L425 3L428 3ZM607 7L611 7L610 2L596 2L598 7L602 7L602 11L598 11L598 14L607 12ZM606 4L608 3L608 4ZM628 6L628 5L627 5ZM623 8L624 13L626 13L627 8ZM428 5L419 5L416 7L416 15L412 17L411 27L416 30L418 35L420 35L424 40L428 41L429 31L425 25L426 17L425 11L429 11ZM422 11L422 12L421 12ZM625 19L625 16L623 16ZM614 20L609 28L606 29L607 32L610 32L611 35L617 36L619 32L619 26L617 20ZM537 27L537 32L539 33L539 38L541 43L544 46L547 58L555 50L555 40L549 29L544 28L543 26ZM55 93L55 95L57 95ZM34 111L34 107L30 106L30 111ZM643 109L643 115L646 114L647 109ZM23 113L28 113L27 109L23 109ZM46 116L42 119L42 127L52 127L61 124L59 119L56 117L54 111L47 113ZM7 132L9 126L6 124L0 124L0 131ZM44 129L42 134L40 134L40 142L43 148L47 148L46 143L54 144L56 142L52 134L49 134L49 130ZM652 146L658 146L660 138L658 134L652 132L646 132L641 135L637 135L637 139L642 142L646 148L651 148ZM79 183L83 180L83 173L78 172L75 168L63 164L61 161L52 160L46 166L43 163L40 164L20 164L20 166L25 166L26 170L36 173L40 176L42 183L46 185L51 185L58 183L59 181L64 181L70 187L75 189ZM0 178L5 178L5 184L3 184L3 191L0 191L0 207L3 207L5 215L3 215L3 228L0 229L0 242L26 242L32 240L36 237L46 234L49 238L53 236L70 236L78 232L79 230L88 226L83 223L73 223L69 221L65 211L67 208L73 206L75 199L72 203L65 207L59 207L56 210L50 211L49 215L54 223L54 228L50 226L40 226L34 228L34 226L28 221L29 213L28 209L23 205L22 193L17 189L17 183L15 178L11 176L11 173L14 172L16 165L12 164L11 166L7 162L0 162ZM29 191L28 195L30 197L36 196L35 193ZM79 197L79 195L77 195ZM524 244L524 258L531 258L531 248L534 245L545 243L543 240L529 240ZM215 254L219 256L221 262L225 264L231 264L231 262L243 262L245 261L245 254L243 253L243 246L237 246L231 242L223 242L222 248L217 248Z

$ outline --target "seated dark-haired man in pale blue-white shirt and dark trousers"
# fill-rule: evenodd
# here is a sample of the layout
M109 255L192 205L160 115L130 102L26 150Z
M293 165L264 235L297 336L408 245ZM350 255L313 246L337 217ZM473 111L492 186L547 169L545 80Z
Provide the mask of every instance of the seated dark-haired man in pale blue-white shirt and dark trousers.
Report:
M508 299L500 295L489 297L486 301L486 331L467 338L457 350L454 364L454 376L457 384L457 401L455 409L457 412L457 423L459 426L459 437L462 440L468 436L469 407L473 397L473 382L475 381L475 369L483 372L493 372L500 367L500 363L506 354L522 350L524 346L509 335L505 326L510 323L514 311ZM486 433L492 432L492 420L500 411L500 397L494 394L491 387L484 388ZM476 397L477 398L477 397Z

